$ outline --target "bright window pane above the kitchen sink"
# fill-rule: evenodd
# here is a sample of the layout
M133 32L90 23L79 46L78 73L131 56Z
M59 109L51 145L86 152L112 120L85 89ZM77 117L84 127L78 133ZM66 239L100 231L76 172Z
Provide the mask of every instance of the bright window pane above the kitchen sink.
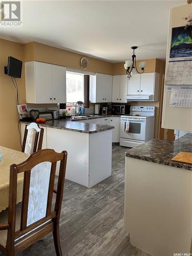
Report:
M84 101L84 75L76 73L66 73L66 94L67 102Z

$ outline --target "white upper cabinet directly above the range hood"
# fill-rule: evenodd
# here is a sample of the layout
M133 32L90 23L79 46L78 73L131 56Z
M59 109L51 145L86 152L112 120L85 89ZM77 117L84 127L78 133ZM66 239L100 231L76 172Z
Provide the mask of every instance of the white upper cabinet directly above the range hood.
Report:
M153 101L158 100L159 74L134 74L128 80L128 95L154 95Z

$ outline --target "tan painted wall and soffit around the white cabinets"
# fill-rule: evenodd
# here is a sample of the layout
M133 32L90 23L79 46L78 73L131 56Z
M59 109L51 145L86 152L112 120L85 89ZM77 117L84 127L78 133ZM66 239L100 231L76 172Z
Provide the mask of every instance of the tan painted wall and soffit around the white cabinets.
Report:
M0 38L0 145L20 149L18 136L18 116L16 109L16 91L13 87L11 77L4 74L4 66L7 65L8 56L13 56L23 61L42 61L55 65L66 66L69 68L81 69L80 59L84 56L81 54L58 49L38 42L30 42L22 45L17 42L8 41ZM123 63L110 63L107 61L88 57L88 71L99 72L104 74L125 74ZM145 72L163 73L164 61L157 59L146 60ZM25 96L25 70L23 66L22 78L17 79L19 88L19 103L26 102ZM159 123L159 102L134 102L131 104L155 105L156 124L155 137L158 137Z

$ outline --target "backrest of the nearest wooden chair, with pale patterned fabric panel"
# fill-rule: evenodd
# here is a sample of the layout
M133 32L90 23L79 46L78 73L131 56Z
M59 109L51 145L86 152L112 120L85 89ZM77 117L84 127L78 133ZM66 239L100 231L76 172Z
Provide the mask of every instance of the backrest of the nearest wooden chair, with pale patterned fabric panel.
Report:
M54 192L56 164L60 161L54 209L51 209ZM67 152L56 153L54 150L40 150L33 153L25 162L10 166L10 188L7 246L35 228L53 218L59 219L63 196L67 163ZM24 174L22 212L20 229L15 231L17 176Z

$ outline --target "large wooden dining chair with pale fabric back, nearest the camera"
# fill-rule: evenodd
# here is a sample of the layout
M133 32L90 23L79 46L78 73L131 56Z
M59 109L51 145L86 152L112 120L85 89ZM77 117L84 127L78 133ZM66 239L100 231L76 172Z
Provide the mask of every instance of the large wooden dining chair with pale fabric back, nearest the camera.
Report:
M56 164L60 161L57 190L54 190ZM8 221L0 214L0 251L13 256L53 231L56 255L61 256L59 217L66 174L67 152L40 150L25 162L10 166ZM17 176L24 174L23 202L17 212ZM53 202L53 193L56 199ZM2 221L3 220L3 221ZM1 223L3 222L3 223Z

